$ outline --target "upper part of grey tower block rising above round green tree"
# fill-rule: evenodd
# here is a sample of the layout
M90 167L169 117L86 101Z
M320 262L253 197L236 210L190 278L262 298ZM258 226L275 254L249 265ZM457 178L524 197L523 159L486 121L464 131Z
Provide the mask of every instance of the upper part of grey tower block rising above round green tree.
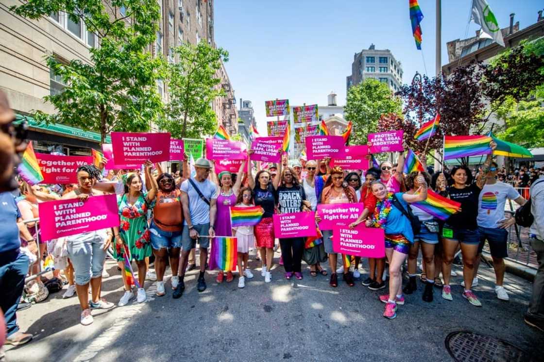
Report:
M372 44L368 49L354 54L351 75L346 77L346 89L367 78L387 83L392 91L397 91L403 84L403 68L389 49L376 49Z

